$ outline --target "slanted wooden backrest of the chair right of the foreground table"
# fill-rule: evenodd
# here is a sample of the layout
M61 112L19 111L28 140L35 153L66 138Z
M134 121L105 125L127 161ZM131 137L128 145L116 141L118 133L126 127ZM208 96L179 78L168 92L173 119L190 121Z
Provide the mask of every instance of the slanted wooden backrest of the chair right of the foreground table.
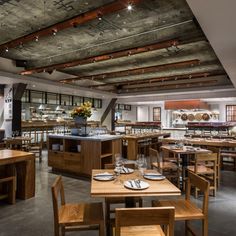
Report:
M203 192L204 197L202 202L202 213L207 216L210 183L199 175L189 171L185 195L187 201L190 201L191 187L196 187L200 189L201 192Z

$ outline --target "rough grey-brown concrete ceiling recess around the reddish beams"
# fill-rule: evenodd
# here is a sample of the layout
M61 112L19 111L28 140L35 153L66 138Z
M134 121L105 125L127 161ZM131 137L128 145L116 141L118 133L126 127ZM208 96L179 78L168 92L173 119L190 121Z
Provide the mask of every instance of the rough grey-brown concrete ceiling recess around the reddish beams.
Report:
M2 0L0 46L22 36L34 33L37 35L39 30L114 2L119 1ZM66 67L68 62L169 40L177 40L178 43L157 50ZM31 74L31 77L41 77L53 82L63 80L72 86L84 87L83 89L93 88L119 95L199 91L210 87L233 88L185 0L139 1L131 11L124 8L101 18L98 15L77 27L60 30L56 35L50 34L39 37L38 41L31 40L15 47L5 47L0 53L6 59L25 62L25 68L21 70L44 68L44 71L52 75L61 72L60 76L46 77L44 75L47 72L41 71ZM188 63L191 60L199 62ZM182 62L181 66L176 65ZM171 63L172 66L169 65ZM60 66L58 69L58 64L65 64L65 67ZM156 66L161 68L142 72L147 67ZM53 72L54 68L59 72ZM130 71L133 69L140 69L141 72L132 74ZM96 79L97 77L102 79ZM159 81L154 81L155 79Z

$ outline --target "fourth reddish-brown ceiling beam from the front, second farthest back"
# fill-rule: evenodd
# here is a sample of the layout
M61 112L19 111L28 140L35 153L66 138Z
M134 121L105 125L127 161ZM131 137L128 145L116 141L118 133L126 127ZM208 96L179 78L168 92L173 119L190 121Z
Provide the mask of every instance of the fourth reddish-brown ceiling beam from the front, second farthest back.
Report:
M96 84L87 86L89 88L98 88L98 87L106 87L106 86L119 86L119 85L135 85L135 84L150 84L155 82L164 82L164 81L174 81L174 80L189 80L189 79L197 79L202 77L216 76L216 75L225 75L223 71L210 71L210 72L201 72L201 73L191 73L191 74L183 74L183 75L173 75L173 76L165 76L158 77L152 79L141 79L141 80L127 80L123 82L114 82L114 83L104 83L104 84Z

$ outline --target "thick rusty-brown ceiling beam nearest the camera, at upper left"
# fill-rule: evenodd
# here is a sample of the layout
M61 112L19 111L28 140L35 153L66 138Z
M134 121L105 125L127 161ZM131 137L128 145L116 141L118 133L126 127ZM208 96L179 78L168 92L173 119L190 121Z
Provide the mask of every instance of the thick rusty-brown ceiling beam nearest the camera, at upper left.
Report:
M9 48L14 48L20 46L22 44L35 41L36 39L40 39L42 37L46 37L49 35L53 35L55 32L59 32L71 27L76 27L77 25L84 24L86 22L92 21L96 18L99 18L104 15L111 14L116 11L123 10L127 8L128 4L136 5L140 3L142 0L118 0L108 3L104 6L98 7L94 10L82 13L78 16L72 17L69 20L65 20L60 23L56 23L52 26L46 27L44 29L38 30L31 34L25 35L23 37L14 39L12 41L6 42L0 45L0 50L6 50Z

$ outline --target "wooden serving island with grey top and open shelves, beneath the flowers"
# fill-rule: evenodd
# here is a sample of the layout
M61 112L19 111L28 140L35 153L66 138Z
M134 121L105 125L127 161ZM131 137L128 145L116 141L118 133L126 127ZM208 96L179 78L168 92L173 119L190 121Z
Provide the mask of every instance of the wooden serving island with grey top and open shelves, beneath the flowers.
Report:
M105 164L113 162L116 153L121 153L121 137L49 135L48 166L55 171L91 176L92 169L104 168ZM60 148L55 149L55 146Z

